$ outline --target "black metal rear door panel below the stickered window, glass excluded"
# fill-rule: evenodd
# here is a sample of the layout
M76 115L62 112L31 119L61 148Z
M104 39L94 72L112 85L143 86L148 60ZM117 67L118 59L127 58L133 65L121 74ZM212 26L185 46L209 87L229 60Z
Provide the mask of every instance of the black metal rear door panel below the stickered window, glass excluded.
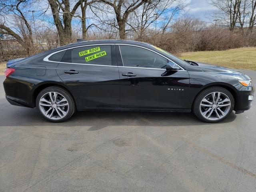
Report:
M79 73L66 74L66 70L76 70ZM60 63L57 73L74 95L78 110L119 107L120 86L117 66Z

